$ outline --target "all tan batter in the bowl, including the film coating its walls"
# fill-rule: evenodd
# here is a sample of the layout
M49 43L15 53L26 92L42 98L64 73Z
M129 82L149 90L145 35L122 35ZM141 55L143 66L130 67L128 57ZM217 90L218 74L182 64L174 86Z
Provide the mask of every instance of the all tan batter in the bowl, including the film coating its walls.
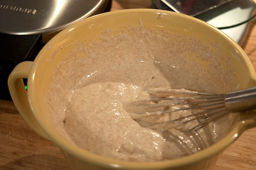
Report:
M219 119L198 132L161 132L140 126L123 108L124 102L147 98L148 88L234 89L236 73L214 56L224 65L229 59L213 48L219 49L216 42L143 25L105 30L98 40L77 44L68 56L76 60L65 73L73 82L61 122L68 138L94 154L148 162L194 154L216 143L232 119Z

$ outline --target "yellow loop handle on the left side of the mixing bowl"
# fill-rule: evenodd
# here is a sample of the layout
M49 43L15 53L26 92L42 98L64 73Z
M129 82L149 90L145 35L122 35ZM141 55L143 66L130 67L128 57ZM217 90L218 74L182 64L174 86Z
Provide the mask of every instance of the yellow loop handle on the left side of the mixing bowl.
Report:
M23 82L23 78L28 78L32 68L32 61L24 61L16 65L16 67L11 72L8 78L8 86L13 99L14 105L22 115L23 119L28 123L28 125L39 135L43 136L49 140L46 133L36 122L34 113L31 110L30 102L28 101L27 90Z

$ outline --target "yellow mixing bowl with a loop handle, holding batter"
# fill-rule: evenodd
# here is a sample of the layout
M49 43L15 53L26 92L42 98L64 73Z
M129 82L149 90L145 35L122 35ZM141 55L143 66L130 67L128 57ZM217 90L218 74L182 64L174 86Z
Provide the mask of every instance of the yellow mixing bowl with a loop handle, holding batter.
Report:
M33 130L60 148L72 169L212 169L218 156L225 148L232 144L243 131L256 126L255 110L238 114L229 133L213 146L194 155L155 163L113 160L95 155L82 150L67 140L59 130L56 130L52 117L49 115L51 111L48 110L47 106L47 90L56 66L63 62L64 56L67 56L75 48L76 45L74 44L81 39L97 39L106 28L117 28L123 24L138 24L138 22L142 22L147 27L160 27L166 30L175 30L182 35L193 35L205 41L213 39L220 45L224 55L230 56L230 67L239 71L237 83L240 88L256 86L254 68L245 52L220 30L201 20L170 11L120 10L92 16L73 24L51 39L40 51L34 62L26 61L18 64L9 77L9 89L15 106ZM28 80L27 90L24 88L23 78ZM61 77L59 79L61 80ZM69 84L69 82L65 82L65 84ZM60 83L60 90L68 92L69 89L65 89L62 82ZM62 104L60 103L60 105ZM56 105L56 107L60 106Z

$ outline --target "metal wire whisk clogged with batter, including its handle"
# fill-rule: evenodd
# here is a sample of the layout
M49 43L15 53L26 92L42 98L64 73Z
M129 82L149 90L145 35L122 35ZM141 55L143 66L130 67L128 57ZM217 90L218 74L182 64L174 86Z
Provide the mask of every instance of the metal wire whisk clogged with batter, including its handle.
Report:
M148 93L150 99L124 103L124 108L141 126L160 131L192 121L196 123L185 131L197 131L228 113L256 109L256 87L226 94L165 88L151 89Z

